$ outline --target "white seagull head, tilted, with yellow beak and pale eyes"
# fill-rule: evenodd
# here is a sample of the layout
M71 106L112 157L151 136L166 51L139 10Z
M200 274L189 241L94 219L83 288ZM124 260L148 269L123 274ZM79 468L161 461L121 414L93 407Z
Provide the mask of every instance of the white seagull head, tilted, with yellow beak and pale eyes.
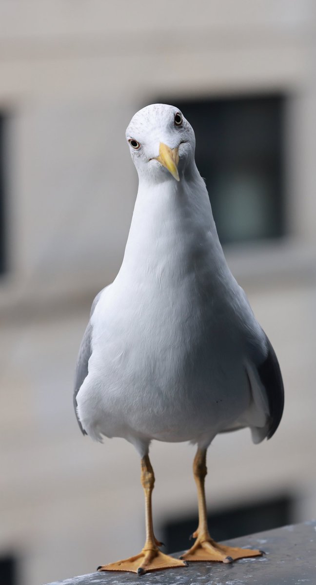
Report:
M180 181L194 160L193 128L174 106L152 104L139 110L126 129L126 140L139 178Z

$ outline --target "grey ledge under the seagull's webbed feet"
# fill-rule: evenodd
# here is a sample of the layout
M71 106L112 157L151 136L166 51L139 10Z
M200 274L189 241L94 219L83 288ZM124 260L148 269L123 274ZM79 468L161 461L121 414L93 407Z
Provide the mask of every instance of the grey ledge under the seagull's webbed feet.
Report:
M228 541L233 546L265 550L262 557L232 565L190 563L188 567L147 573L90 573L47 585L315 585L316 521L284 526ZM136 553L136 551L135 551ZM179 556L174 555L174 556ZM114 559L116 560L116 559ZM101 559L102 562L102 559Z

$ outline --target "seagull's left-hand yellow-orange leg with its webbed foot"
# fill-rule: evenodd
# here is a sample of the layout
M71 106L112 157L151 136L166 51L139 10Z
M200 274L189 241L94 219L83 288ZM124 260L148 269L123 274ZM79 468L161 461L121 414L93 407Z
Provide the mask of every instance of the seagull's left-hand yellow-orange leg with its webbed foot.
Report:
M169 555L164 555L164 553L158 548L161 543L157 541L154 536L152 516L154 472L148 455L143 457L141 465L141 481L145 492L146 505L145 545L138 555L131 556L129 559L119 560L116 563L110 563L109 565L102 565L101 567L98 567L98 571L132 571L133 573L144 574L149 571L187 566L186 561L174 559Z

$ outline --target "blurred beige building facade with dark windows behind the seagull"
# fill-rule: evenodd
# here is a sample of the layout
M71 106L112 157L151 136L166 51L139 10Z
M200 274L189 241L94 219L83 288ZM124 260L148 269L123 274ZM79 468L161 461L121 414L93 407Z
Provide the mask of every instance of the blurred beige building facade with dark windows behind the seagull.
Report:
M143 545L139 457L121 439L84 438L72 393L135 202L125 128L157 101L194 126L226 259L286 387L272 441L254 446L246 429L209 449L212 535L315 516L315 32L313 0L0 0L4 585L92 572ZM194 452L152 445L169 551L196 528Z

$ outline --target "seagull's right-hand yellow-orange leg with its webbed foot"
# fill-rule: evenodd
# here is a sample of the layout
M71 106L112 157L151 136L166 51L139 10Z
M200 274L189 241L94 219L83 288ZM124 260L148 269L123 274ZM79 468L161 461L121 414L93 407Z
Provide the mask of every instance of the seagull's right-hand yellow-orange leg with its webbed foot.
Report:
M219 545L213 541L208 532L207 507L205 501L205 476L207 474L206 449L198 449L194 457L193 473L197 484L198 494L198 528L193 536L194 545L181 559L185 560L215 560L222 563L231 563L233 560L248 556L260 556L260 550L242 549L233 546Z

